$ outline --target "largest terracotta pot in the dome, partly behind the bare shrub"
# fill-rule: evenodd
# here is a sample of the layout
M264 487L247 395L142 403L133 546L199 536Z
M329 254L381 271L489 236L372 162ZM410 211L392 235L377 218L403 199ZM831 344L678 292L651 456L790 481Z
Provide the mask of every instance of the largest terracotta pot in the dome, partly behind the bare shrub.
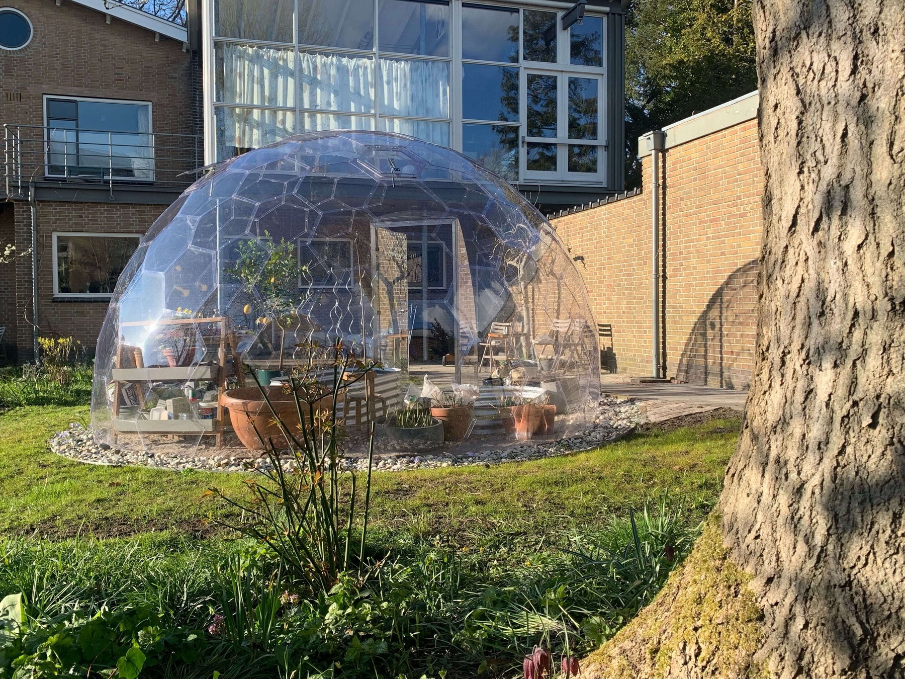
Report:
M229 418L235 435L249 450L264 450L269 440L272 440L277 448L285 448L288 445L286 437L275 421L277 416L293 435L300 432L299 411L291 392L284 387L264 387L264 392L270 399L272 408L268 406L258 387L230 389L220 397L220 403L229 408ZM315 410L329 411L333 407L333 397L321 398L314 407ZM304 405L302 413L305 413Z

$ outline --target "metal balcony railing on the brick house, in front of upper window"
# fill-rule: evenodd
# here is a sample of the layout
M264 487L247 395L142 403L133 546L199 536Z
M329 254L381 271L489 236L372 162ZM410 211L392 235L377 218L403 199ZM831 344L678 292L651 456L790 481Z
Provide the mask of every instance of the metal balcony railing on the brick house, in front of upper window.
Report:
M24 197L33 181L185 188L204 163L200 136L159 132L4 127L5 195Z

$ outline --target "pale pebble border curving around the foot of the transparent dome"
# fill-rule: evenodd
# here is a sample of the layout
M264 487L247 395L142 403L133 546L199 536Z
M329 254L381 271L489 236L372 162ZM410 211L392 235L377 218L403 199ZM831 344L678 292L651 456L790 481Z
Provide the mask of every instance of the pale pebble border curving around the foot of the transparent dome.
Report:
M374 469L379 472L405 472L411 469L429 469L435 467L456 467L468 465L503 464L508 462L526 462L543 457L580 453L614 441L628 434L634 426L643 421L643 413L634 399L603 397L597 407L595 423L578 434L561 438L557 441L542 443L525 442L523 445L510 446L502 450L481 451L479 453L465 451L456 454L422 454L412 456L378 457ZM112 448L109 445L96 444L90 427L72 423L69 429L53 435L50 441L53 453L77 460L86 464L103 464L109 466L135 465L155 469L170 469L176 472L198 470L209 472L240 472L249 468L266 469L270 463L266 458L242 458L227 455L192 457L188 455L160 455L153 451L136 452ZM361 458L345 458L348 469L365 470L367 460Z

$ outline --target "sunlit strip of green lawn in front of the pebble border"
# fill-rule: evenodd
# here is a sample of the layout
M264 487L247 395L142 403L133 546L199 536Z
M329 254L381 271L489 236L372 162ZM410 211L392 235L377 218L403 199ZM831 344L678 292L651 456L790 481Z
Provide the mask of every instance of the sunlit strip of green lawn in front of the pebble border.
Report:
M206 520L224 510L202 493L211 485L241 493L243 474L100 467L52 454L50 436L87 415L85 406L0 414L0 531L55 539L217 530ZM737 437L738 419L720 419L529 463L375 473L373 525L462 544L544 540L664 490L703 517L719 495Z

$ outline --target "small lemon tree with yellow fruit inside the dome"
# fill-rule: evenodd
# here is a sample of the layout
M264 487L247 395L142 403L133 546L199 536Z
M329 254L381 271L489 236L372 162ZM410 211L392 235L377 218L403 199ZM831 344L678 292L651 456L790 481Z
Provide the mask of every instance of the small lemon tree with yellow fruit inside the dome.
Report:
M264 232L263 238L243 241L236 248L238 261L226 271L238 279L241 289L255 295L260 311L257 324L266 328L271 323L280 331L279 363L276 376L282 374L286 343L286 330L299 322L298 308L307 298L300 292L300 282L309 278L307 264L300 264L292 250L292 244L281 238L279 243ZM252 305L246 304L243 312L252 312ZM262 385L270 384L276 377L271 370L259 370ZM265 374L266 373L266 374Z

